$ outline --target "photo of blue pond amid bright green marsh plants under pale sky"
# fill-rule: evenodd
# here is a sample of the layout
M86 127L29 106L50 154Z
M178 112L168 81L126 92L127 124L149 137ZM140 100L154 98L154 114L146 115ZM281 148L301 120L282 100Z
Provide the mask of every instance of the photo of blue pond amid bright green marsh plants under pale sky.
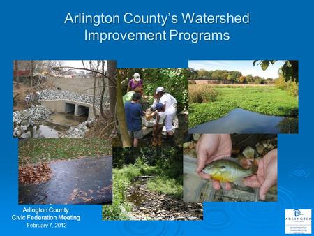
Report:
M189 61L189 133L298 133L298 61Z

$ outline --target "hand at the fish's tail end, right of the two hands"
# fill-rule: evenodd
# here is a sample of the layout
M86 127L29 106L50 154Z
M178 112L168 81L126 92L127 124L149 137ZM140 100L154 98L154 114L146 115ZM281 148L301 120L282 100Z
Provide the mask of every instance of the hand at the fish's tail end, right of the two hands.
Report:
M265 200L267 191L277 183L277 149L258 161L256 175L246 177L244 183L251 188L260 188L260 199Z

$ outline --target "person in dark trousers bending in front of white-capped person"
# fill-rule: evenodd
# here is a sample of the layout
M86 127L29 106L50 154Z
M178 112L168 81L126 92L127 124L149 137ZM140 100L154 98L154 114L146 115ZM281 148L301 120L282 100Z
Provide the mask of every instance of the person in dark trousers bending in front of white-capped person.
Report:
M165 121L165 111L163 110L163 104L156 104L156 111L151 113L151 116L156 115L156 123L153 128L153 142L152 145L154 147L161 145L161 135L163 132L163 122Z

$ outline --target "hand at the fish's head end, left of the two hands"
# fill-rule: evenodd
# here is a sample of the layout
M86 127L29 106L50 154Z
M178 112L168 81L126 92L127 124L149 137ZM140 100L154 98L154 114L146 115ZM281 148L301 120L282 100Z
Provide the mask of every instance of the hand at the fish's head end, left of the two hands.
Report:
M205 165L231 155L232 142L229 134L203 134L196 145L197 152L197 168L196 172L202 179L211 179L202 170ZM220 189L220 182L211 179L214 189ZM230 190L231 185L225 182L225 189Z

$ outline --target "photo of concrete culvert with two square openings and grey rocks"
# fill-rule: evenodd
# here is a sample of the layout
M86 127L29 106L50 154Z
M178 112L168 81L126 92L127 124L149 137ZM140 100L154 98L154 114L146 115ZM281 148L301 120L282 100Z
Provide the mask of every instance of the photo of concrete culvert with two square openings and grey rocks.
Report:
M14 61L13 137L112 138L116 61Z

